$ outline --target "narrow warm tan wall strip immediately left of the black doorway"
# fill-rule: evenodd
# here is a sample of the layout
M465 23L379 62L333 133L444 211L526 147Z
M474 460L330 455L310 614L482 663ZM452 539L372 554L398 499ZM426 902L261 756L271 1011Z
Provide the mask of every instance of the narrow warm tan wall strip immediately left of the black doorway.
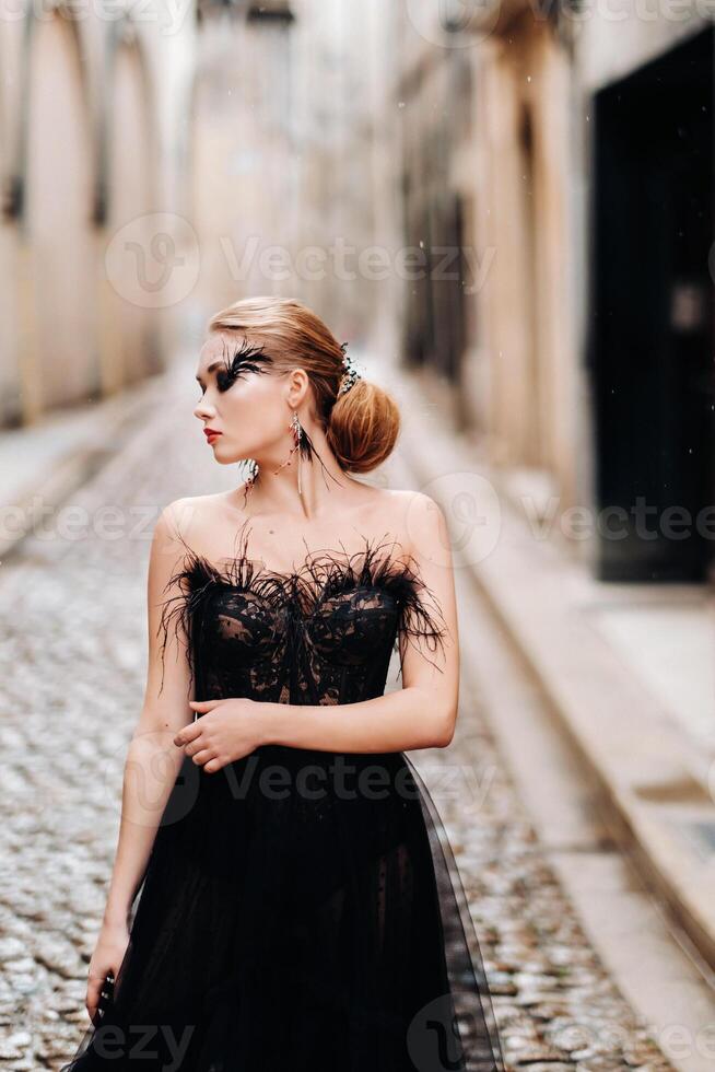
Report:
M530 14L482 46L479 294L490 376L493 461L574 490L575 313L570 217L570 71Z

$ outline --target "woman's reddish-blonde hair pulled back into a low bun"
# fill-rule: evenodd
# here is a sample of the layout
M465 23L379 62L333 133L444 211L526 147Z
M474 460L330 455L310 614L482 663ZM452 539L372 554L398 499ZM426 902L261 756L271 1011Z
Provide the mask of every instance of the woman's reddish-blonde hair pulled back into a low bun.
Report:
M279 372L305 369L313 387L313 417L341 468L368 473L391 453L400 430L397 403L362 376L338 395L345 371L343 350L306 305L291 298L245 298L215 313L207 330L262 343Z

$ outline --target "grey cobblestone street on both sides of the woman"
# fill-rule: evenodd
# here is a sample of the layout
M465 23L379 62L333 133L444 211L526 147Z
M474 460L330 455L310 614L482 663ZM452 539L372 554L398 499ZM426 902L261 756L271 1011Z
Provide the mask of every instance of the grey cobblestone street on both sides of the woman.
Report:
M60 510L61 531L48 520L2 564L3 1069L58 1069L87 1025L86 967L143 695L151 534L171 500L238 479L212 462L194 404L186 374L180 387L167 381L161 412ZM462 656L489 674L472 630ZM582 932L479 699L462 692L448 749L411 758L452 839L509 1067L670 1068Z

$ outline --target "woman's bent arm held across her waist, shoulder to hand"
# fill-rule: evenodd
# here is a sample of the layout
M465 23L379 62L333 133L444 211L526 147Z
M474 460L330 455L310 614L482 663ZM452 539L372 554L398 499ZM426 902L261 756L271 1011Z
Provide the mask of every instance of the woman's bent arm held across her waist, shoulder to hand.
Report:
M196 700L201 719L174 743L208 772L266 744L337 753L444 748L454 736L459 702L459 636L449 533L429 496L411 497L410 551L441 609L443 643L434 653L421 636L400 634L402 688L356 703L297 706L228 698Z

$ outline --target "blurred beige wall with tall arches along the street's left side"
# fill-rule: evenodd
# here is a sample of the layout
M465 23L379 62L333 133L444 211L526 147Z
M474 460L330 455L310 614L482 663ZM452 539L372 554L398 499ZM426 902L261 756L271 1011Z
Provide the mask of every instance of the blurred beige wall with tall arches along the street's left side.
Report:
M81 19L16 8L8 0L0 19L0 423L91 401L165 362L175 308L156 302L145 250L180 205L196 33L192 5L142 5L134 22L99 5ZM148 218L157 211L161 225Z

